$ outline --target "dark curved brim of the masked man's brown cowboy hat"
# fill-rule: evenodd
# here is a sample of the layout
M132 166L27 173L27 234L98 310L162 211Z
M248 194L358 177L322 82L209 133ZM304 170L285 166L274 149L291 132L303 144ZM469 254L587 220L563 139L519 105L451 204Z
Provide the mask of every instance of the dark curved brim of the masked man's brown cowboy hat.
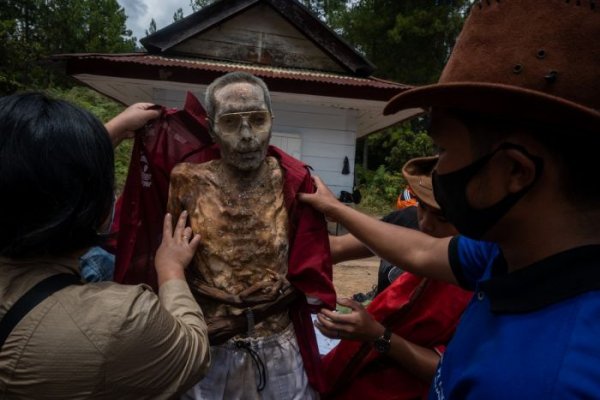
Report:
M600 127L600 111L535 90L486 82L441 83L410 89L393 97L383 114L414 107L457 108L550 125L577 126L589 132L597 132Z

